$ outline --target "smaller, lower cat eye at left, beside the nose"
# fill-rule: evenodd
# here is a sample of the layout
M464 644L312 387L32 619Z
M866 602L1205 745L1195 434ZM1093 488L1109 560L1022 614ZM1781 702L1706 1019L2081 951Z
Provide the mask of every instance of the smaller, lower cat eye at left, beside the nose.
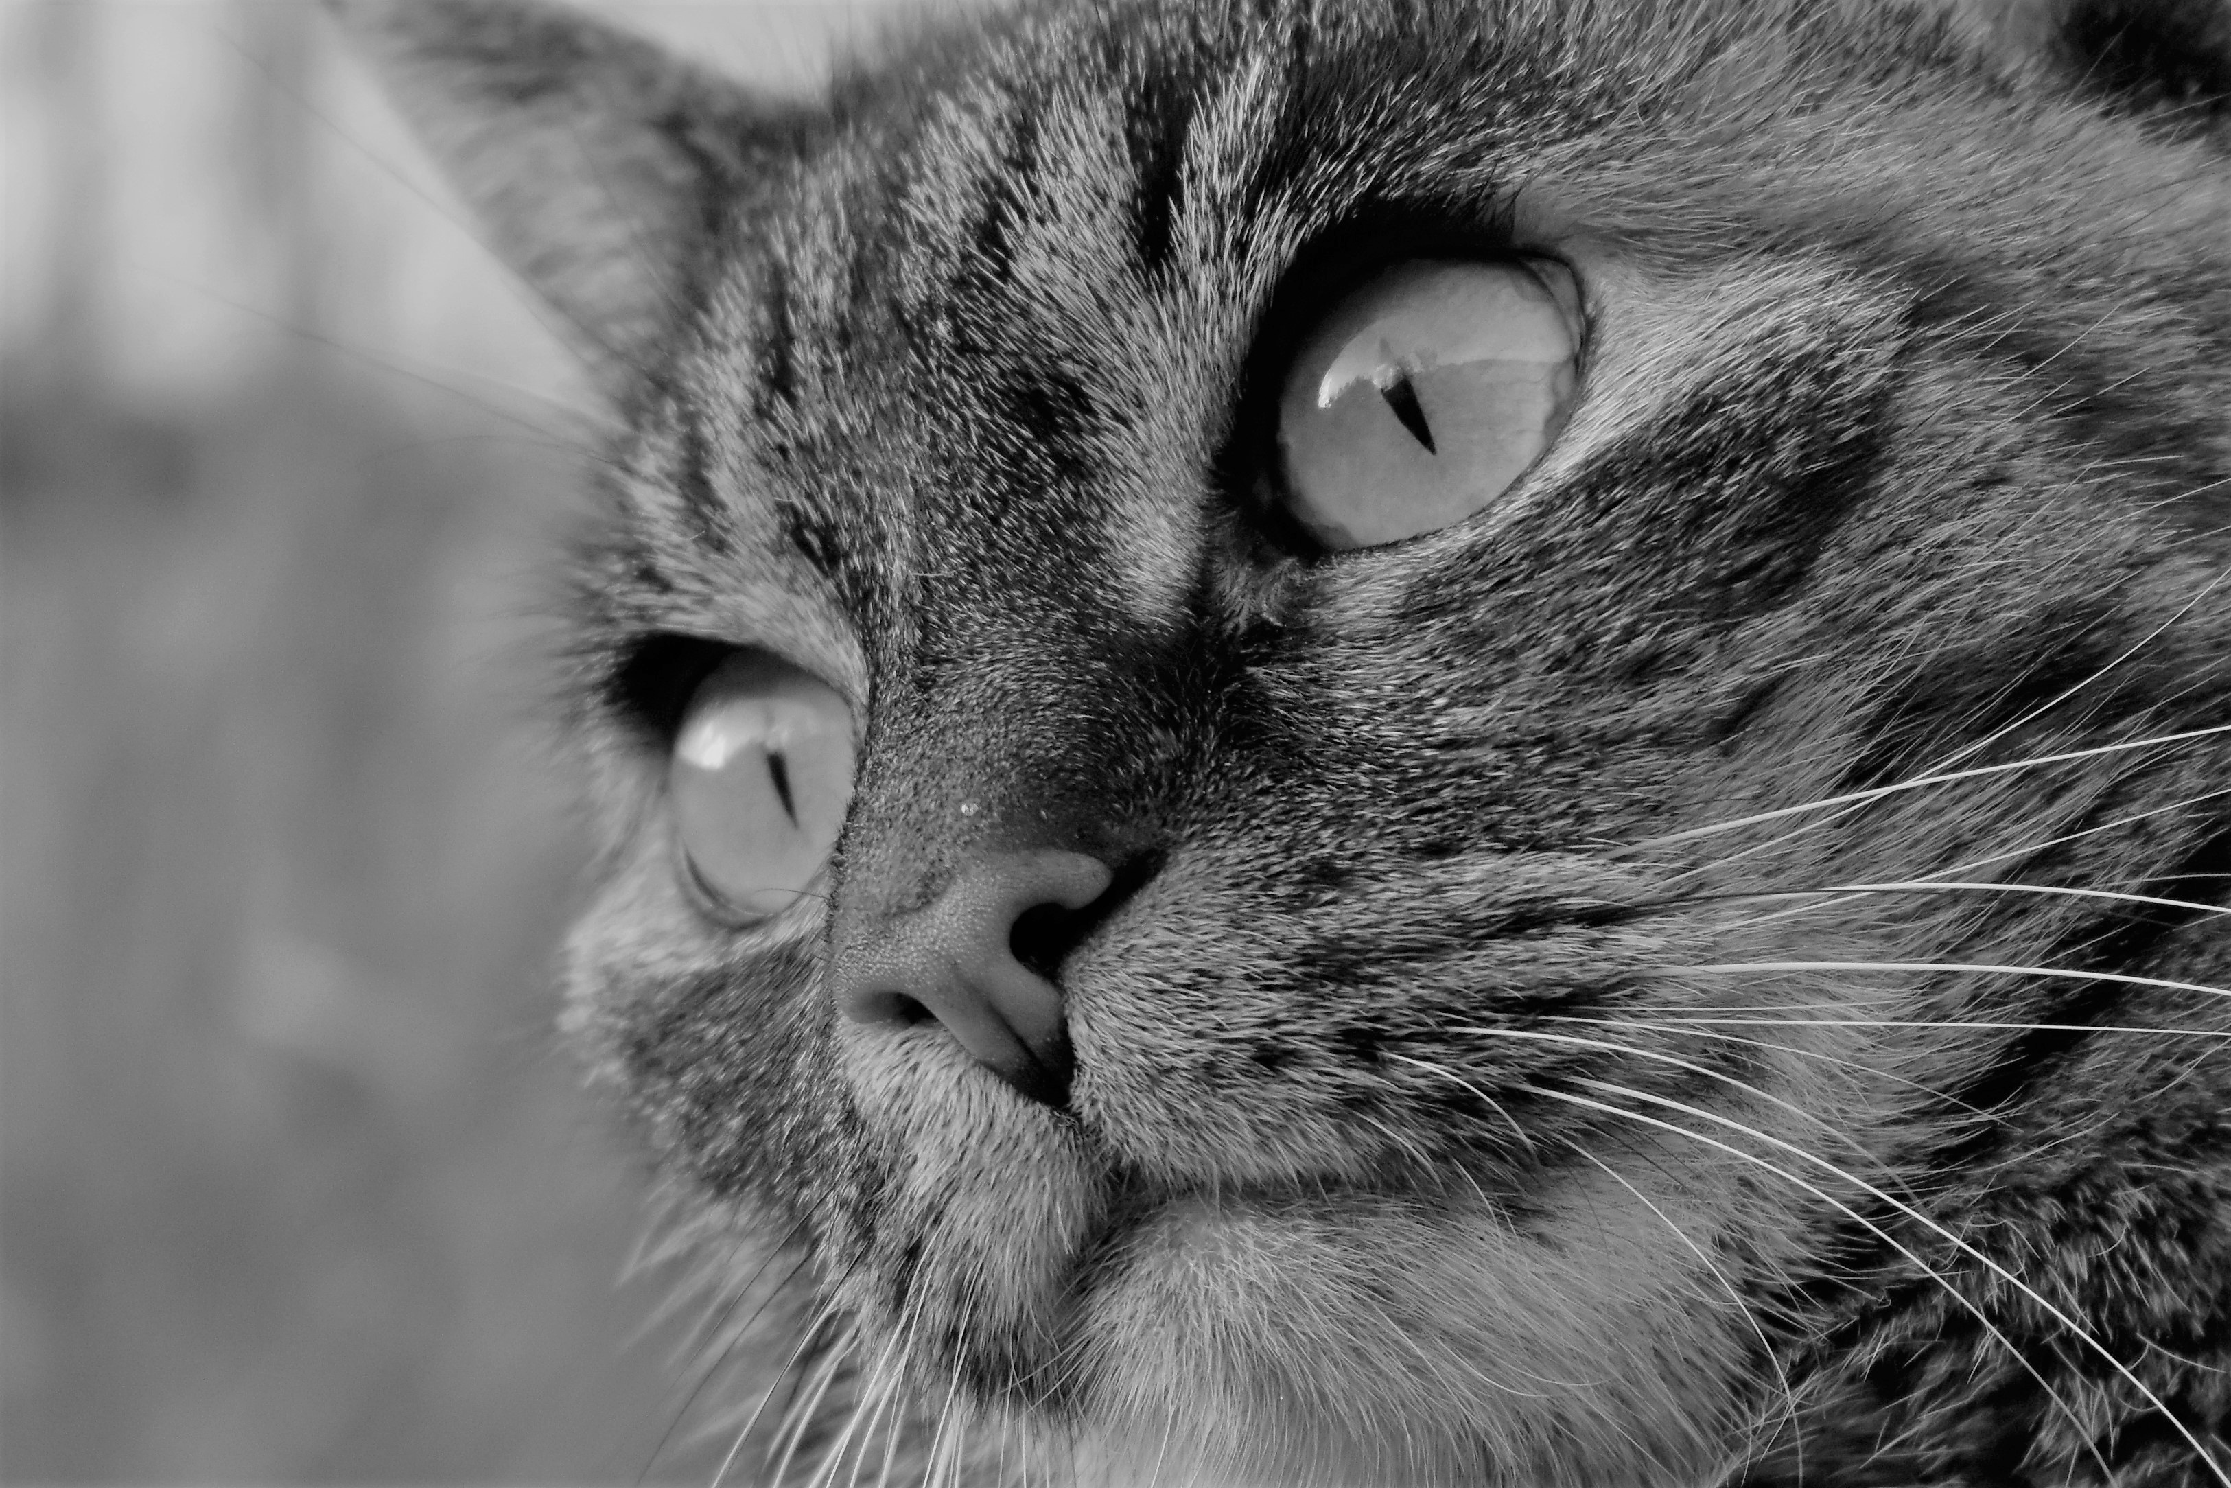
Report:
M819 678L738 651L698 683L667 794L689 872L745 919L810 895L852 801L852 709Z

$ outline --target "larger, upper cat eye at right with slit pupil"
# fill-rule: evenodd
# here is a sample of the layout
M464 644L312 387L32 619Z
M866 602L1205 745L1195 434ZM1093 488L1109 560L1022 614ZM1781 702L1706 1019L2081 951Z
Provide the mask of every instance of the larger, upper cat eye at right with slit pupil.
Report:
M1327 549L1430 533L1526 473L1573 399L1562 263L1399 263L1310 330L1278 395L1285 509Z

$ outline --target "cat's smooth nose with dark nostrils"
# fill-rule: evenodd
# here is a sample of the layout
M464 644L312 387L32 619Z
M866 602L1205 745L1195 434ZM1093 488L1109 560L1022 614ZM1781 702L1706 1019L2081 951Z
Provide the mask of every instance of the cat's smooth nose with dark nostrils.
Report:
M1049 975L1062 921L1113 883L1082 852L999 852L962 870L928 908L841 935L837 1008L859 1024L935 1017L962 1049L1049 1107L1069 1100L1069 1020Z

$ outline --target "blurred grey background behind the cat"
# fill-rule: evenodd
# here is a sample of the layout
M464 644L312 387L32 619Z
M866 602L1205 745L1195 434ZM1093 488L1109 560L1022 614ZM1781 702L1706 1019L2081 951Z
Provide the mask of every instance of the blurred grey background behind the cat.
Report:
M0 1479L709 1481L551 1035L585 384L306 0L0 0Z

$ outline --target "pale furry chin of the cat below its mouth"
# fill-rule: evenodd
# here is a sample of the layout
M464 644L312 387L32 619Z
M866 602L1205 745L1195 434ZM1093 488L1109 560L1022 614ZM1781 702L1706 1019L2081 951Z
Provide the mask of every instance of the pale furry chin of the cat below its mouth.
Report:
M1702 1477L1742 1414L1731 1298L1640 1194L1577 1187L1586 1234L1377 1196L1165 1207L1080 1321L1086 1414L1167 1443L1111 1481Z

